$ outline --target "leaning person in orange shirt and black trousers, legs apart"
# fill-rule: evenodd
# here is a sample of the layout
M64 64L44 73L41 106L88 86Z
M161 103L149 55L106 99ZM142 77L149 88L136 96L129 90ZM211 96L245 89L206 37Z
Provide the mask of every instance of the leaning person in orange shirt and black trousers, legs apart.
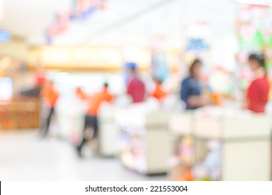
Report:
M82 139L82 142L80 145L77 146L77 154L82 157L82 147L84 144L88 141L87 137L87 129L91 128L93 130L93 135L91 139L97 137L98 134L98 111L100 108L100 104L102 102L111 102L113 100L113 95L109 93L108 91L108 84L105 83L103 90L100 91L100 93L97 93L96 95L91 98L91 103L89 105L89 108L86 111L86 116L85 116L85 122L84 122L84 136ZM89 138L90 139L90 138Z

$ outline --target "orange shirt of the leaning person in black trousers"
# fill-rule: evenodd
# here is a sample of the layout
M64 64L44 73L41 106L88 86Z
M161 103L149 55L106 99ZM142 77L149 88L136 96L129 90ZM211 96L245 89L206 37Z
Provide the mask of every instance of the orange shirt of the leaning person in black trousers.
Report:
M91 99L91 104L89 109L87 110L87 114L91 116L98 115L98 109L102 102L111 102L113 100L113 95L111 95L107 88L104 88L103 91L93 96Z

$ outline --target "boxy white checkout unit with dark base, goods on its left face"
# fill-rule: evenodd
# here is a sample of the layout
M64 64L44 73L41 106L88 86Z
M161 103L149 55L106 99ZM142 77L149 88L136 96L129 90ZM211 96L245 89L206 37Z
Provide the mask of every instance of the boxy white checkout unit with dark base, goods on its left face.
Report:
M144 175L167 173L169 112L150 111L143 114L129 109L125 112L129 115L126 115L128 123L121 126L121 163ZM142 123L133 123L134 119Z

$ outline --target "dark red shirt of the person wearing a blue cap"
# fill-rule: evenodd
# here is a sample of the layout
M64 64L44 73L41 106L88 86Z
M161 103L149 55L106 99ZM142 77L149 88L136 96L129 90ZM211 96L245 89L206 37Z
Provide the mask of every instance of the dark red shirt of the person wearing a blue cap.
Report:
M139 79L132 79L128 84L128 95L133 98L134 103L144 102L145 91L144 83Z

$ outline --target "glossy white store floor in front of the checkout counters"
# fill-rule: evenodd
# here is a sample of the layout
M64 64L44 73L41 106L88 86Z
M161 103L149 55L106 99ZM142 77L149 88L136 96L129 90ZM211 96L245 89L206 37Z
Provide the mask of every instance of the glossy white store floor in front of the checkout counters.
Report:
M0 180L167 180L128 171L118 159L79 159L59 139L39 139L37 131L0 132Z

